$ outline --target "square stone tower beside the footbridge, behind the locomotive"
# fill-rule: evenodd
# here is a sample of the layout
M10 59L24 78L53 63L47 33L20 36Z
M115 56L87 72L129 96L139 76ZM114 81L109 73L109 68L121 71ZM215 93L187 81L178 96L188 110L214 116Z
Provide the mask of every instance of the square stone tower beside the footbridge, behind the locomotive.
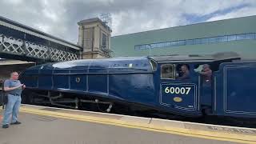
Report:
M110 58L110 27L99 18L82 20L78 26L78 45L83 48L82 59Z

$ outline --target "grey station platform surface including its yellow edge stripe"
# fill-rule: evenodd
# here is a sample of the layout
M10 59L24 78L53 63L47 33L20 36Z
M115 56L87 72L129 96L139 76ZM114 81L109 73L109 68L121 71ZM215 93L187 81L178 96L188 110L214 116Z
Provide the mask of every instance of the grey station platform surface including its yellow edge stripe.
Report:
M21 125L0 129L0 144L256 143L256 130L22 106ZM2 119L1 119L2 120Z

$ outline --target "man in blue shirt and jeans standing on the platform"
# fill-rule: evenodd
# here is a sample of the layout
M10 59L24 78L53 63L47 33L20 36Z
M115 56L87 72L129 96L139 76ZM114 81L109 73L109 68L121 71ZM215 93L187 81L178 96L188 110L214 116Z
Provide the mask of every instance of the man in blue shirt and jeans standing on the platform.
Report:
M21 84L18 80L18 73L13 72L10 74L10 79L7 79L4 82L4 91L7 93L8 102L6 103L6 108L4 110L4 115L2 119L2 128L8 128L11 119L11 125L18 125L21 122L18 122L18 110L21 106L22 98L22 90L25 89L25 85Z

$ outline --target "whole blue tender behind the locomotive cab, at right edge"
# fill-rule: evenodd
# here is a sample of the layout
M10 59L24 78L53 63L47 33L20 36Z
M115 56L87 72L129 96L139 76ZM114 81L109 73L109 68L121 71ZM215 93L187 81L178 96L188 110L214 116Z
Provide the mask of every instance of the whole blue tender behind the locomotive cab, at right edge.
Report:
M214 74L214 114L256 118L256 63L222 63Z

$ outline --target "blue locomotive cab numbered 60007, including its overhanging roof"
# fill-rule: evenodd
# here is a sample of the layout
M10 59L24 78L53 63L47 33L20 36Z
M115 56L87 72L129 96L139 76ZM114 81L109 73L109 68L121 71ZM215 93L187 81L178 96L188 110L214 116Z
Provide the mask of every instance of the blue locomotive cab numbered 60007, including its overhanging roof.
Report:
M186 116L212 114L214 72L222 62L234 59L238 59L238 54L155 57L160 83L159 104ZM212 70L209 78L200 74L204 65Z

